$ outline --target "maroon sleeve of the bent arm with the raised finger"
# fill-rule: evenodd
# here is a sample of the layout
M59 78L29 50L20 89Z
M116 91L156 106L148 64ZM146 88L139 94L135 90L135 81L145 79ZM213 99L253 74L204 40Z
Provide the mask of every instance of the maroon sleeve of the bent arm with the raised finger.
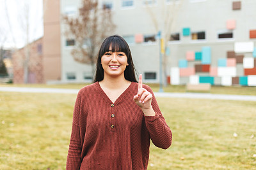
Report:
M154 93L149 87L147 89L153 96L151 105L156 112L156 116L145 116L146 126L154 145L159 148L167 149L172 145L172 131L164 120Z

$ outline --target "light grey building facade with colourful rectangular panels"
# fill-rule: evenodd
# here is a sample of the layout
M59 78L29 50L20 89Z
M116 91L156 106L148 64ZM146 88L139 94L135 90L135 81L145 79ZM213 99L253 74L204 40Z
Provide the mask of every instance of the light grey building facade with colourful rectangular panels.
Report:
M60 16L76 16L80 4L60 0ZM129 43L145 83L159 83L163 71L173 85L256 85L254 0L100 0L99 8L113 12L113 34ZM60 80L92 81L91 66L72 58L76 43L64 36L65 29L60 20Z

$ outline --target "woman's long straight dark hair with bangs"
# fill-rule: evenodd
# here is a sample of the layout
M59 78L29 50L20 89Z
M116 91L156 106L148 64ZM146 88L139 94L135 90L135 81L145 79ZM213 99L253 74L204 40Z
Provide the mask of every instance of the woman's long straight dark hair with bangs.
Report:
M96 62L96 73L93 82L95 83L96 81L101 81L104 78L104 70L100 63L102 55L109 51L109 46L111 46L112 52L124 52L127 56L127 62L129 65L125 68L124 78L129 81L138 82L135 76L136 69L132 62L132 54L129 45L124 38L118 35L109 36L103 41L102 45L100 46Z

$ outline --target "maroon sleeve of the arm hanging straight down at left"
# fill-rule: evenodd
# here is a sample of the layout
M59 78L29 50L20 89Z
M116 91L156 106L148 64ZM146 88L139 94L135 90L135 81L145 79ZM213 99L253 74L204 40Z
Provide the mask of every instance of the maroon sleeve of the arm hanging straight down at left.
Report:
M66 169L80 169L81 166L81 139L79 128L79 115L81 108L81 95L77 95L76 104L74 106L72 132L70 137L70 144L68 149L67 166Z

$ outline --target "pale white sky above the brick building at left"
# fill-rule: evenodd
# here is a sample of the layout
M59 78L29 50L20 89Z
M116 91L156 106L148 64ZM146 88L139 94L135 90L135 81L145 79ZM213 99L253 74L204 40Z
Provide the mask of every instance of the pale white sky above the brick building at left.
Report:
M28 19L26 19L28 14ZM43 0L0 0L0 47L21 48L43 36Z

